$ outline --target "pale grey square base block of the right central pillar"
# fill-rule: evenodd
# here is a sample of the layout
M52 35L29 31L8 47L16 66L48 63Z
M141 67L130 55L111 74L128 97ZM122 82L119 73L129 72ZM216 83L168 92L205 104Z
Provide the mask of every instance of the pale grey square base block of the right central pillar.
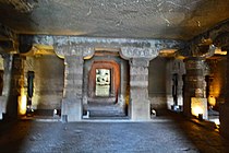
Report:
M130 115L133 121L148 121L150 120L149 101L133 99L131 101Z

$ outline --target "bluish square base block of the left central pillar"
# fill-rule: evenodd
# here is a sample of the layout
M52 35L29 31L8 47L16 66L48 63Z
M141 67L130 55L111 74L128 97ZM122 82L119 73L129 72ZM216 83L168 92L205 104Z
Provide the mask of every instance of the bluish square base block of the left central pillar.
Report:
M61 106L61 120L63 122L81 121L82 120L82 99L64 98Z

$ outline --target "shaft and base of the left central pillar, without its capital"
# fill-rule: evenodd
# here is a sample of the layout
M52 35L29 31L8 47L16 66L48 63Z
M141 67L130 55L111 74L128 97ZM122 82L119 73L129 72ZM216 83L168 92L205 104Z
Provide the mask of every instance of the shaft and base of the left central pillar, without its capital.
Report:
M61 108L63 121L82 119L83 62L83 57L64 57L64 95Z

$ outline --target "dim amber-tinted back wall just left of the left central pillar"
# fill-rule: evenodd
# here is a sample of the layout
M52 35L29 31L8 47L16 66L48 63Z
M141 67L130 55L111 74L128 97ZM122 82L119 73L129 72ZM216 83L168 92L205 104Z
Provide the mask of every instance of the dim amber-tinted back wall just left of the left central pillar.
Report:
M26 57L25 86L27 71L35 72L33 108L60 109L63 95L63 60L57 56Z

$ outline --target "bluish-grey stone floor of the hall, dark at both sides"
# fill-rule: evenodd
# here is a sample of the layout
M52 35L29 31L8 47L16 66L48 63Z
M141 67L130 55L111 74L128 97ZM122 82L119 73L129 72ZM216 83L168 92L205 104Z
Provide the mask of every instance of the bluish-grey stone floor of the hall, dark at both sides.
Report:
M1 121L0 152L227 153L229 142L213 128L170 114L150 122Z

